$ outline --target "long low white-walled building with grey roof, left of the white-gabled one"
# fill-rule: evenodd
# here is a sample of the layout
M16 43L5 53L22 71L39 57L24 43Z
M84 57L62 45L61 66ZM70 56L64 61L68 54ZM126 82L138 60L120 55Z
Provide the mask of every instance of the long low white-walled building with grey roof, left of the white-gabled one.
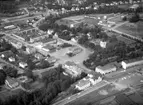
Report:
M95 71L101 74L107 74L116 71L116 69L117 69L116 66L112 64L107 64L105 66L97 66Z

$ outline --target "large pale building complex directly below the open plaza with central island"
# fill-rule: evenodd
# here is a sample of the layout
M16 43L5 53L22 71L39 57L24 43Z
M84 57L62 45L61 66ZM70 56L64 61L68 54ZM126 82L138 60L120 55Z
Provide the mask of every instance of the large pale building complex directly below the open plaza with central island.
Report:
M63 68L66 70L67 73L70 75L76 77L81 74L82 69L78 67L74 62L67 61L65 64L63 64Z

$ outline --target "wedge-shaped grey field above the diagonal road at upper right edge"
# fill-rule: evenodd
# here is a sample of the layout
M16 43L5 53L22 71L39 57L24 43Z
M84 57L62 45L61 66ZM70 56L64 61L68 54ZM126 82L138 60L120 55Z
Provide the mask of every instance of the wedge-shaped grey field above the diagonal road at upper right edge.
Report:
M130 34L138 38L143 38L143 22L139 21L137 23L125 23L116 28L116 30L121 31L125 34Z

